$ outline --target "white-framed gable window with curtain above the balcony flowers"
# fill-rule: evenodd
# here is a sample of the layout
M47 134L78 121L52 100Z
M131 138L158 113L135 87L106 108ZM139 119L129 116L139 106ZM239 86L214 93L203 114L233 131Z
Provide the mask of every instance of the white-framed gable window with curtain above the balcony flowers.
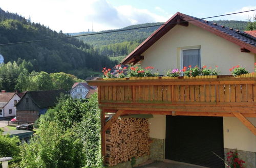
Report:
M200 48L181 50L181 68L189 65L201 68Z

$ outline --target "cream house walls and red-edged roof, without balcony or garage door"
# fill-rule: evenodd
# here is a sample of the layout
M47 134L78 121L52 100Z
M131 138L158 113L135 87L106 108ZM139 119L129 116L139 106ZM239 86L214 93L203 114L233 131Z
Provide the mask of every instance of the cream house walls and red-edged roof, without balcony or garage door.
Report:
M193 63L200 67L218 66L222 75L230 75L229 69L237 65L254 72L255 37L229 27L195 19L198 18L176 13L131 52L122 64L140 63L142 68L154 66L154 70L158 70L160 74L164 74L165 70L182 69ZM184 58L195 59L184 61ZM223 141L225 153L237 149L246 161L246 167L255 167L256 136L237 118L222 119L223 139L220 141ZM256 118L247 119L254 127L256 126ZM166 122L168 122L166 116L154 115L149 121L150 137L165 146Z

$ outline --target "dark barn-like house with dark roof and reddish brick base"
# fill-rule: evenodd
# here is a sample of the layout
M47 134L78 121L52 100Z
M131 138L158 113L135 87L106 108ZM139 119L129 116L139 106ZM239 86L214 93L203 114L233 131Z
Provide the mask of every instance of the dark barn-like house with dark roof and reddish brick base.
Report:
M26 91L20 101L16 104L16 119L19 122L33 123L40 115L46 113L47 109L57 103L57 97L66 94L63 89Z

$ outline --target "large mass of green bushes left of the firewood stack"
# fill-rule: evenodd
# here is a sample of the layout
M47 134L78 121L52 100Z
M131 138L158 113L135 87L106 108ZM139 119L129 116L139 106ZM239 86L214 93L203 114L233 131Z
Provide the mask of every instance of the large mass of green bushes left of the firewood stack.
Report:
M62 97L41 115L30 144L22 146L22 167L101 166L97 94L88 102Z

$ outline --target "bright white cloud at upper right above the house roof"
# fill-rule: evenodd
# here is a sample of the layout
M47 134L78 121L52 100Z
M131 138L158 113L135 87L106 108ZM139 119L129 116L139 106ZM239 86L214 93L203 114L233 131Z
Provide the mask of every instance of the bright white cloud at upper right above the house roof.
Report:
M248 7L243 7L241 9L234 10L231 12L226 12L225 14L249 11L249 10L254 10L254 9L256 9L256 6L248 6ZM218 19L247 21L248 16L254 17L255 15L256 15L256 11L251 11L251 12L239 13L239 14L234 14L234 15L222 16L222 17L218 17ZM214 20L217 20L217 19L214 18Z

